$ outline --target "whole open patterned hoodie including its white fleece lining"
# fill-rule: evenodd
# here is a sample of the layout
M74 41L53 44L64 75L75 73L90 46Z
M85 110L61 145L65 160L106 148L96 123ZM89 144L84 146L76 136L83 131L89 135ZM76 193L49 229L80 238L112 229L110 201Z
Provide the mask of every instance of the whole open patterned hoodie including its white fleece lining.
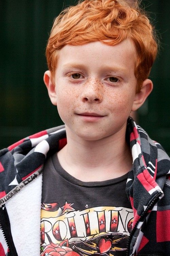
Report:
M168 256L170 158L131 117L128 118L126 137L133 157L126 193L134 210L127 255ZM0 256L39 255L41 172L46 158L65 144L65 127L58 126L0 151Z

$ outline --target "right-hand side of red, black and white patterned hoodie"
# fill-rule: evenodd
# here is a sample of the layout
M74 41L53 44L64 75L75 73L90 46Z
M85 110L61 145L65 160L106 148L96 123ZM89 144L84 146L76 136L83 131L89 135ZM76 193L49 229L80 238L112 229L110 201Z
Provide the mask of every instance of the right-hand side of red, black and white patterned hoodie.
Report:
M133 170L128 176L126 193L134 210L129 255L169 255L170 158L132 118L128 119L127 134ZM146 254L152 251L150 248L155 254ZM163 248L169 253L162 254Z

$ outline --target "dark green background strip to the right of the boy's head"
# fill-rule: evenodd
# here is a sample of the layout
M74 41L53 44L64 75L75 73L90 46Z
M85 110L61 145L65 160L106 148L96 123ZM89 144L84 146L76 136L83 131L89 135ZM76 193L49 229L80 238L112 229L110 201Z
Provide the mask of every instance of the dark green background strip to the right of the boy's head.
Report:
M154 89L139 112L139 124L150 137L163 145L170 155L170 1L149 0L145 3L160 39L160 51L150 79Z

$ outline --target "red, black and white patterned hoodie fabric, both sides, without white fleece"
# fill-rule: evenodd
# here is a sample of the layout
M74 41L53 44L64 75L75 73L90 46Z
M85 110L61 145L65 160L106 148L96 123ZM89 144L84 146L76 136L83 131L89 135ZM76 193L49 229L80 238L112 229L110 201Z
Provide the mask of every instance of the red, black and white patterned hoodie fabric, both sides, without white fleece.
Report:
M133 157L126 193L134 210L128 255L147 255L151 246L155 248L152 255L166 255L161 253L164 249L170 253L170 158L131 117L128 118L126 138ZM0 207L36 179L43 170L46 157L66 143L65 127L59 126L1 150Z

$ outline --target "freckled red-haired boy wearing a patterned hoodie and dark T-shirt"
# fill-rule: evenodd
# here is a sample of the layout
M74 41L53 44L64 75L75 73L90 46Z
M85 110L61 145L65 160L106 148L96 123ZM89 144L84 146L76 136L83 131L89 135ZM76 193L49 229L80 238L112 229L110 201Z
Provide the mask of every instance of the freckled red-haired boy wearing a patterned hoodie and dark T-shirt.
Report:
M156 52L126 1L55 19L44 82L65 126L0 152L1 255L169 255L169 157L129 117L152 91Z

